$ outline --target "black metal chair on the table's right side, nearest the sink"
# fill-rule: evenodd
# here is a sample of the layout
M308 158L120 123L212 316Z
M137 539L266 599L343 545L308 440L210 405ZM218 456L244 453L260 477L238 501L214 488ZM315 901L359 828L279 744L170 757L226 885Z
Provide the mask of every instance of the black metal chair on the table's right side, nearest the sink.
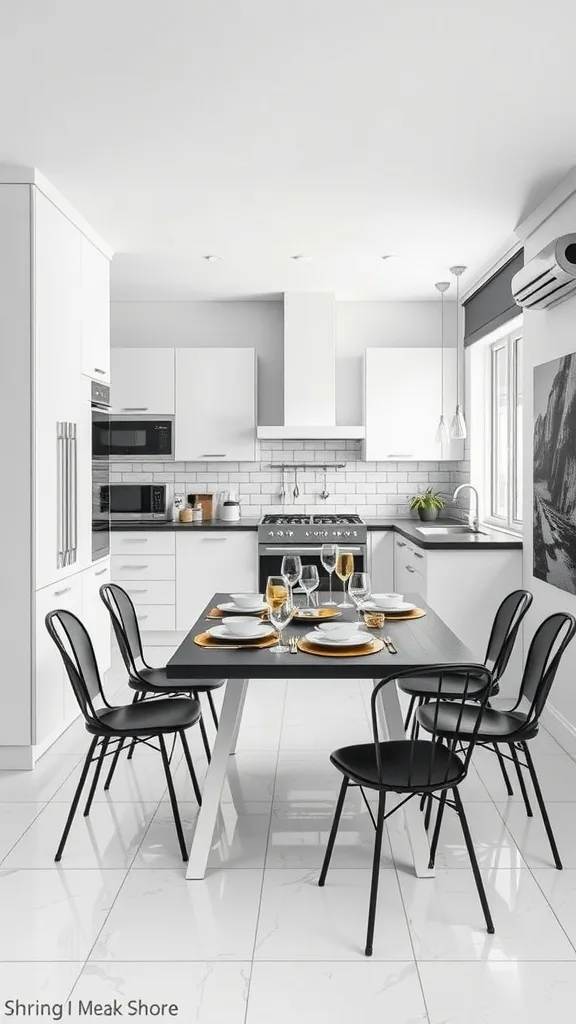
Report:
M528 611L530 605L532 604L533 596L528 590L515 590L511 594L508 594L504 598L500 607L498 608L494 622L492 624L492 630L490 631L490 637L488 640L488 646L486 648L486 656L484 658L484 664L487 669L490 669L492 673L492 690L491 696L495 696L499 691L499 681L502 678L508 662L510 659L510 654L513 650L518 634L520 632L520 627L522 626L523 620ZM413 678L405 679L399 683L399 687L403 693L407 693L410 696L410 705L408 707L408 713L406 715L405 726L406 729L409 728L410 720L412 719L416 702L418 707L421 707L434 697L435 680L434 679L422 679L416 680ZM482 688L481 688L482 689ZM461 695L461 684L458 680L446 681L446 693L444 699L450 699L451 696L459 697ZM474 685L470 686L469 698L474 699ZM416 730L417 734L417 723L413 721L413 728ZM504 759L502 758L497 746L494 746L494 753L498 758L500 765L500 771L502 772L502 777L504 779L504 784L506 786L506 793L509 797L512 796L512 787L509 780L508 773L506 771L506 766ZM429 822L429 809L430 804L428 802L428 808L426 811L426 828Z

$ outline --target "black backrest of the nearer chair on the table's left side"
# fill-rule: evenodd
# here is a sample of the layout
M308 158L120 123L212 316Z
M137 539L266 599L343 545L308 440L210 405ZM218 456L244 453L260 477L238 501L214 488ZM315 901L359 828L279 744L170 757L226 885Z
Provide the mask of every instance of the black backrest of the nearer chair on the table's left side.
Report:
M100 674L92 641L86 627L72 611L56 608L44 620L65 664L74 695L87 722L97 723L93 701L101 697L108 703L101 687Z

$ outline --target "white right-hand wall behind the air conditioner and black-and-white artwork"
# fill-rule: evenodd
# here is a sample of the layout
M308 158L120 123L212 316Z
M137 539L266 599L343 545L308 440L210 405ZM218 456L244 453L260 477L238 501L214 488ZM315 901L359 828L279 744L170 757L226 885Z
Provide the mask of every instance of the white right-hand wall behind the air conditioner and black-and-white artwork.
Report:
M526 259L531 259L559 234L573 231L576 225L576 195L572 196L545 220L525 244ZM530 611L528 636L535 626L553 611L571 611L576 615L576 596L550 587L532 574L532 454L533 454L533 371L540 362L576 351L576 299L563 302L554 309L524 314L524 583L534 594ZM561 667L549 703L570 731L576 746L576 640L568 649ZM562 721L561 719L561 721ZM553 727L553 721L547 719ZM554 730L556 732L556 730ZM567 734L557 733L564 741ZM568 737L569 738L569 737Z

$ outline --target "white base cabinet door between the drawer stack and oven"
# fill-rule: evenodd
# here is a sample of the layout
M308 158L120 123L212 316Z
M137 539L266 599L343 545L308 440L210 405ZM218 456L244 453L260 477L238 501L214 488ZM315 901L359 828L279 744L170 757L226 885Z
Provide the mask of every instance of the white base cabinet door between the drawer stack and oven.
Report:
M257 585L255 532L214 530L176 536L176 629L189 630L216 592L253 593Z

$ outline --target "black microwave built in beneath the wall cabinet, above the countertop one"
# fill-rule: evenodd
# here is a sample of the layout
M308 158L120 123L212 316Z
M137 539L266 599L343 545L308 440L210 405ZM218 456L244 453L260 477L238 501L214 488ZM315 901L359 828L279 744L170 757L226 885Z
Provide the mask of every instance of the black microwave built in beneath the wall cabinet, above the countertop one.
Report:
M110 417L92 424L92 455L111 459L174 458L174 423L172 420L128 420Z

